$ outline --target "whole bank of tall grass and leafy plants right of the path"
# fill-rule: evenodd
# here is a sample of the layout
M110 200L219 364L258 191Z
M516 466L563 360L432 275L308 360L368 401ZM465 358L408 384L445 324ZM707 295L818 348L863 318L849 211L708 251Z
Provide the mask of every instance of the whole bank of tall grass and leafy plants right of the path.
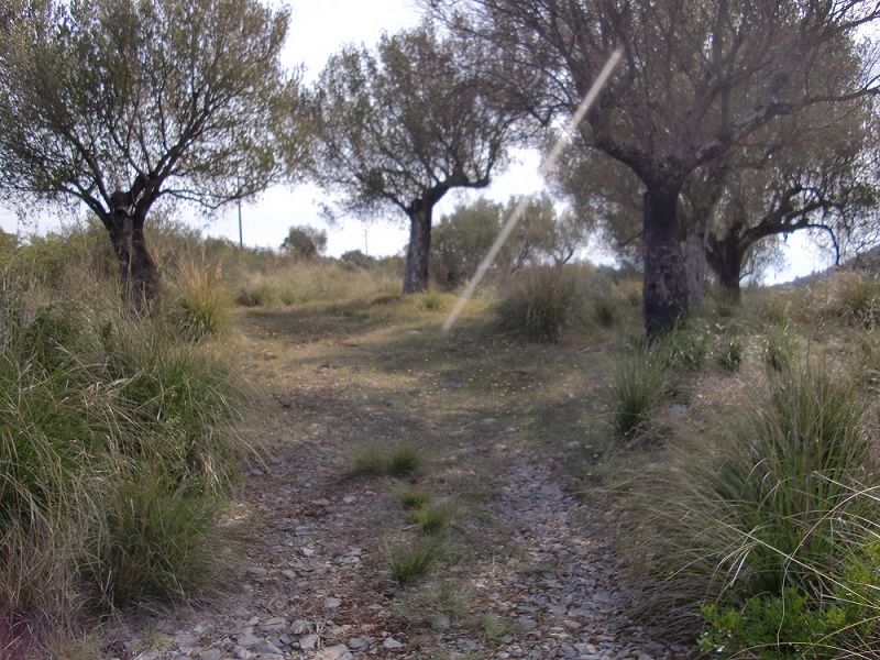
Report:
M602 476L629 520L623 562L648 618L702 631L718 657L862 657L880 644L864 278L706 311L615 370Z

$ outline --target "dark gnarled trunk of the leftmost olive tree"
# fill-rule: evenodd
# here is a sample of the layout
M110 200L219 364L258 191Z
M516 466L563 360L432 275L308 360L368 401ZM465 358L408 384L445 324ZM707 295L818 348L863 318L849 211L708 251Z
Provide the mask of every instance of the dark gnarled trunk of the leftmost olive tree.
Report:
M133 310L145 312L158 295L160 274L144 238L146 209L129 206L131 197L122 193L112 196L113 209L105 227L119 262L125 300Z

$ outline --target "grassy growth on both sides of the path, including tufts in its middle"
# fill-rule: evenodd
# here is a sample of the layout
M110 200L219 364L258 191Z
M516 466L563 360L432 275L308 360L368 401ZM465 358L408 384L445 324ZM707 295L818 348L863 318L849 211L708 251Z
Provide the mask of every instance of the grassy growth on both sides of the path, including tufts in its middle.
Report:
M245 389L218 356L230 317L282 310L316 331L356 332L377 319L400 330L451 302L439 293L403 301L382 271L352 277L339 264L169 234L158 243L169 295L135 322L108 294L112 266L99 239L3 252L7 638L35 622L202 586L209 558L199 550L248 451ZM84 290L84 282L101 284ZM466 360L426 375L466 385L476 399L503 393L530 439L580 457L585 483L629 520L620 554L651 595L650 619L702 631L700 644L722 657L870 656L880 285L845 273L810 289L747 292L741 306L710 300L652 346L638 339L638 293L584 267L522 274L495 292L497 305L483 300L469 316L458 336ZM418 351L459 350L431 340L399 359L415 366ZM560 343L516 348L534 340ZM537 396L518 382L537 378L531 359L585 352L594 358L578 362L580 378L541 373ZM407 451L367 452L352 465L404 474L419 463ZM439 547L430 539L451 512L428 493L400 499L428 538L389 557L405 584L430 570Z

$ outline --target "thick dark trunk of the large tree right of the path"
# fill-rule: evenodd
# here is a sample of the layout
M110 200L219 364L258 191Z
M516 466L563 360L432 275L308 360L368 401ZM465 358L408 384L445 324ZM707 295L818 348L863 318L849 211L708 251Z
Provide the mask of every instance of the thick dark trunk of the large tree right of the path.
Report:
M645 330L654 339L688 315L688 278L679 243L680 186L652 184L645 193Z

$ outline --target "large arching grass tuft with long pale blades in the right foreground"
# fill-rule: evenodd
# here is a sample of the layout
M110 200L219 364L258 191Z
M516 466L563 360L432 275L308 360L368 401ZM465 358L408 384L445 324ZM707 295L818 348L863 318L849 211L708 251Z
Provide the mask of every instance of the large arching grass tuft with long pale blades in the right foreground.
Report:
M880 519L880 501L866 491L879 481L872 443L854 388L809 370L789 372L766 403L684 433L636 497L647 522L630 559L659 581L653 614L693 630L702 612L706 648L729 632L725 656L744 658L800 657L794 630L817 617L825 632L806 639L816 654L805 657L840 657L823 654L820 638L834 632L843 644L850 619L880 614L880 596L851 576L880 572L866 554ZM834 609L857 593L857 612ZM768 622L792 637L777 638L777 654L748 654L767 642Z

